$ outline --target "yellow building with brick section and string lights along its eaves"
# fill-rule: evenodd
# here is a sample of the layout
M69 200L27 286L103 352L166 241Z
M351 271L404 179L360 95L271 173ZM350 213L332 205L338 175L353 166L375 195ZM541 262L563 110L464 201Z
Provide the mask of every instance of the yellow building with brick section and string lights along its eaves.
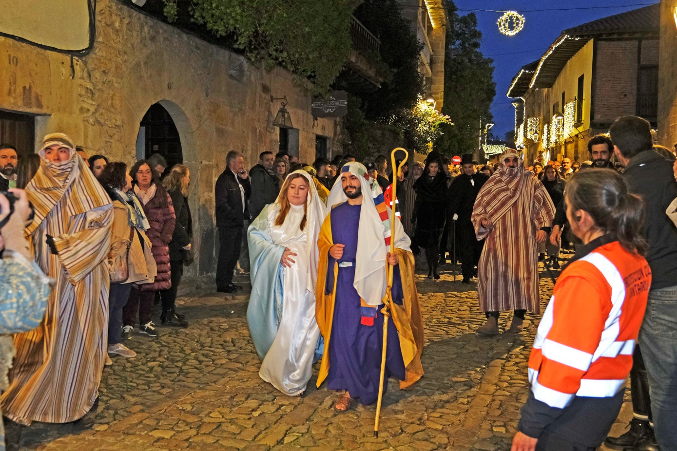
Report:
M659 5L564 30L540 60L521 68L516 145L528 164L587 160L587 143L627 114L657 122Z

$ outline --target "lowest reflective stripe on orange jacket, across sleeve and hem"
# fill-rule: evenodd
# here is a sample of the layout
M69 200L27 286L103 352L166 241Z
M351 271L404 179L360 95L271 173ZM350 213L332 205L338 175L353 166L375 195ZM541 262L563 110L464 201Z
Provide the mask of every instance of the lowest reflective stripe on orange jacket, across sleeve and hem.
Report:
M627 379L581 379L575 396L587 398L609 398L626 385ZM533 397L550 407L565 408L573 400L573 394L563 393L538 382L538 371L529 368L529 383Z

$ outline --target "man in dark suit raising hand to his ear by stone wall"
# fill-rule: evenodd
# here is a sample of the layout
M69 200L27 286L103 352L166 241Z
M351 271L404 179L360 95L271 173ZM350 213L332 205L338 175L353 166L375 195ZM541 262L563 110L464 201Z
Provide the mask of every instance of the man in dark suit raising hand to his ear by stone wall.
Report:
M233 285L233 270L240 258L244 220L249 219L247 201L251 185L242 153L232 150L225 161L227 167L219 175L215 187L216 225L219 228L216 287L221 293L235 293L242 289Z

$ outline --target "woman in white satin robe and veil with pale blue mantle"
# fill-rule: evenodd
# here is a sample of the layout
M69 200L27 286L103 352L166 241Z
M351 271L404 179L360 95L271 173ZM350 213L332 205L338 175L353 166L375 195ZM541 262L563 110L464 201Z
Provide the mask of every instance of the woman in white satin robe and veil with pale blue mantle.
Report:
M247 323L263 360L259 376L289 396L303 394L313 362L322 355L315 283L325 216L311 176L297 170L248 229L252 293Z

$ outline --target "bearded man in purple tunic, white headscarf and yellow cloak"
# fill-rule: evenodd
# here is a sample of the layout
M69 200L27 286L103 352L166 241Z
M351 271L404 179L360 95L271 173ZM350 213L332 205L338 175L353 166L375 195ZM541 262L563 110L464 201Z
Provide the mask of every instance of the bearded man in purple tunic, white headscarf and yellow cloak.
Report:
M385 384L389 375L408 387L423 374L422 317L414 285L414 256L399 220L391 231L391 210L363 164L349 162L334 183L318 239L320 263L316 318L324 336L318 387L345 390L334 405L349 410L359 398L376 402L383 346L386 260L394 266L393 321L388 323ZM388 252L395 239L395 254ZM385 387L384 387L385 389Z

